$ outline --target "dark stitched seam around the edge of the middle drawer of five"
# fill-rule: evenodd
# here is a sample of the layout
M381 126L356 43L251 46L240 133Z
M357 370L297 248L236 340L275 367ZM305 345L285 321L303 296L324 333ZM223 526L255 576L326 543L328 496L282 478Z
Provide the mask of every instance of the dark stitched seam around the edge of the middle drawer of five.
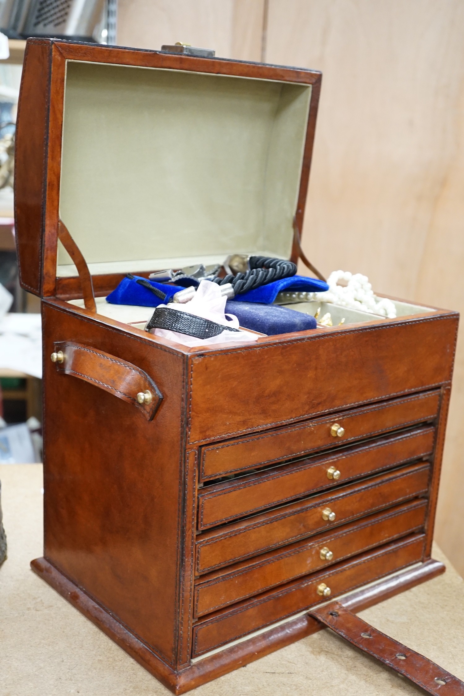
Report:
M275 517L271 517L271 518L264 520L262 522L255 523L255 524L250 525L249 527L246 527L244 529L240 529L240 530L237 530L235 532L228 533L228 534L226 533L225 535L223 535L221 537L216 537L214 539L209 539L209 541L201 541L200 540L197 542L197 569L198 569L198 572L205 574L205 571L210 572L216 568L221 568L224 565L230 565L230 564L237 562L239 560L246 560L246 558L248 558L250 556L255 556L255 555L258 555L259 553L264 553L265 551L271 551L273 548L277 548L278 546L283 546L284 544L290 544L292 541L298 541L298 539L301 539L301 535L294 535L293 537L289 537L289 538L285 539L285 541L282 541L280 544L273 544L271 546L269 546L269 545L263 546L262 548L258 548L257 550L253 551L252 553L246 553L243 555L233 557L230 560L227 560L227 562L218 563L214 566L207 566L206 569L203 569L203 571L202 571L200 569L200 551L204 546L210 546L211 544L221 543L221 541L223 541L224 539L232 539L232 537L237 537L243 533L246 533L246 532L249 532L249 531L252 531L255 529L259 529L261 527L265 527L266 525L273 524L275 522L280 522L280 521L285 520L289 517L304 514L305 512L311 512L312 510L316 510L318 507L323 507L324 505L328 505L328 503L331 503L333 501L338 503L339 500L346 500L346 498L349 498L350 496L358 495L359 493L365 494L369 491L374 491L374 489L381 488L381 487L383 487L383 485L387 485L387 484L390 484L392 482L397 483L402 478L406 478L408 476L414 476L417 473L422 473L424 470L426 470L426 468L430 468L430 464L426 464L415 471L408 471L405 473L401 473L400 475L394 476L391 479L387 479L386 481L380 481L380 482L373 483L366 488L358 489L358 491L348 491L346 493L343 493L340 496L332 496L330 498L327 498L326 500L321 501L320 503L317 503L316 505L307 505L307 507L300 508L296 511L291 510L291 511L287 511L285 513L281 513ZM416 491L415 493L413 493L413 497L420 496L421 493L426 493L426 491L427 491L427 488L424 488L420 491ZM390 500L387 505L394 504L394 503L401 503L403 500L409 500L410 498L411 498L410 495L409 496L400 496L399 498L394 498L394 500ZM360 516L362 516L364 514L370 514L370 513L376 512L376 510L383 509L383 507L384 506L382 506L382 505L380 507L378 505L377 505L377 507L367 507L366 509L361 510L360 512L355 512L355 514L352 514L351 516L344 517L342 523L345 524L353 519L359 518ZM315 532L317 532L317 529L314 530L313 533L315 533ZM310 535L307 535L307 536L310 536ZM304 535L303 535L303 537L304 537Z

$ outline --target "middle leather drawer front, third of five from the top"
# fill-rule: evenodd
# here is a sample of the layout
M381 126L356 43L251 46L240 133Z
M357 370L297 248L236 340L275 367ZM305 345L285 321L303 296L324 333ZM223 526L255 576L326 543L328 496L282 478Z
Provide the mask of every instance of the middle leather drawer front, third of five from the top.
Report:
M322 493L277 510L227 525L199 537L195 569L198 574L246 560L273 548L355 520L395 503L426 495L429 464L411 464L367 481L348 484L333 493ZM330 507L335 521L323 519Z

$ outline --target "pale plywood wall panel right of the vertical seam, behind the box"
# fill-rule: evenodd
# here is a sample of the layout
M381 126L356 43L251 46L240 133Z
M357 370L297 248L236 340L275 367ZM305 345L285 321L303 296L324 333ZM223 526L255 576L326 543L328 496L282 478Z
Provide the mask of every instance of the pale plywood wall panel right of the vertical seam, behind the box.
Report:
M266 61L323 72L305 253L462 311L463 35L460 0L269 0ZM461 335L436 538L464 575L463 412Z

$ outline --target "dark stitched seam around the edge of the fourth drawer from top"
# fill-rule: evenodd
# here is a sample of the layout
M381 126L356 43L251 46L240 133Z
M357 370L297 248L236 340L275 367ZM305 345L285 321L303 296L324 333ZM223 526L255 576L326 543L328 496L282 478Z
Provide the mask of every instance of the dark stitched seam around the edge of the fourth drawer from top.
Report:
M410 509L408 509L408 510L397 510L396 512L390 512L390 514L385 514L384 516L381 517L381 519L376 520L374 522L374 524L371 522L360 523L360 525L358 525L358 527L356 527L355 530L351 529L351 530L346 530L345 532L342 532L342 534L339 534L339 535L337 535L337 534L330 535L326 539L324 539L323 541L321 540L321 541L318 541L317 543L314 543L314 541L308 542L308 544L305 544L305 545L301 546L300 548L294 548L293 551L287 551L286 553L281 553L279 555L276 555L273 558L268 558L267 560L262 561L261 563L257 563L253 567L253 569L264 568L266 566L269 566L272 563L275 563L278 560L282 560L284 558L289 559L294 555L298 555L300 553L305 553L305 552L310 552L311 551L310 547L317 548L317 546L320 546L321 544L326 545L326 544L332 543L333 541L339 541L340 539L343 539L344 537L347 537L347 536L353 534L353 532L360 532L363 529L368 528L371 525L374 526L374 525L378 525L378 524L383 524L386 521L390 521L390 520L394 519L394 517L401 516L405 512L410 512L411 509L417 509L419 507L424 507L425 505L426 505L426 502L423 500L420 503L417 503L416 505L411 506ZM397 537L399 537L403 534L411 534L411 533L421 529L422 526L423 525L415 525L415 527L411 527L406 532L399 532L398 534L390 535L390 537L383 539L382 541L378 542L378 544L371 544L370 546L365 546L361 549L358 548L357 550L351 551L351 553L348 553L346 555L342 555L341 557L337 558L337 560L335 560L334 562L338 563L340 561L346 560L346 558L349 558L350 556L355 555L356 553L363 553L365 551L369 551L370 548L375 548L376 546L379 546L381 544L388 544L390 541L393 541L394 539L396 539ZM234 578L239 578L242 575L246 575L250 571L250 569L252 569L252 567L242 568L241 570L239 570L235 573L227 574L227 575L221 576L221 578L216 578L215 580L210 580L209 582L206 582L202 585L198 585L195 588L195 613L198 615L198 601L200 600L200 596L199 596L200 590L202 590L204 587L214 587L215 585L221 585L221 583L223 583L224 581L233 580ZM314 571L317 571L317 570L319 570L319 569L318 568L314 569ZM306 573L302 573L302 574L300 574L300 576L301 575L306 575ZM282 580L282 583L288 583L291 580L294 580L296 578L298 578L298 575L291 576L291 577L287 578L286 580ZM281 583L278 583L278 585L280 585L280 584ZM259 593L265 592L266 590L271 590L272 587L274 587L274 585L260 586ZM239 602L243 599L247 599L249 596L253 596L253 594L258 594L258 593L252 593L251 595L244 594L242 596L239 596L236 599L234 599L234 603ZM222 604L217 604L216 606L209 607L207 613L216 611L217 609L221 609L222 607L228 606L228 605L229 605L229 603L222 603Z

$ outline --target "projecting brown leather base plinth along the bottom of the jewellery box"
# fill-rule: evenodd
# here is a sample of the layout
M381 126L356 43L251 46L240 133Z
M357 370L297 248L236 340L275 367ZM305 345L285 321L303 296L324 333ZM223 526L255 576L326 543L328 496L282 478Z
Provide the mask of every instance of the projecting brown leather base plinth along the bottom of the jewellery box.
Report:
M186 693L323 628L316 619L305 614L176 671L45 558L33 560L31 567L56 592L79 609L174 694ZM445 566L430 559L392 578L351 592L340 601L351 611L361 611L425 580L431 580L443 572Z

